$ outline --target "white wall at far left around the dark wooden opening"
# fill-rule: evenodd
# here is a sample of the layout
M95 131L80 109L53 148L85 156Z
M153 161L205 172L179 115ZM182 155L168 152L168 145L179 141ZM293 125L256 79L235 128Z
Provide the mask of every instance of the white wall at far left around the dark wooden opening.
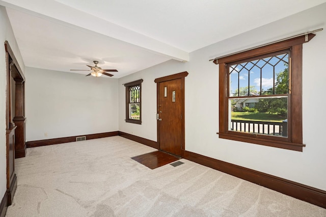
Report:
M8 41L18 64L24 73L24 64L4 7L0 6L0 199L7 189L6 175L6 51Z

